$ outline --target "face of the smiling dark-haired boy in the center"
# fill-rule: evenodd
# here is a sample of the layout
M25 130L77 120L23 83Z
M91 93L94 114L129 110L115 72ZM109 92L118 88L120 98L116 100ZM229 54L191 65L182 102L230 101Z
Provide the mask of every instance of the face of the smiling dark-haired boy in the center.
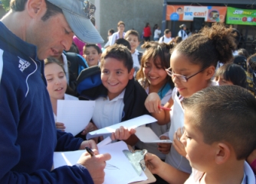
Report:
M123 61L115 58L107 57L101 68L101 81L103 86L107 88L107 95L112 100L123 92L130 79L133 79L133 71L131 69L128 73L128 69L124 66Z

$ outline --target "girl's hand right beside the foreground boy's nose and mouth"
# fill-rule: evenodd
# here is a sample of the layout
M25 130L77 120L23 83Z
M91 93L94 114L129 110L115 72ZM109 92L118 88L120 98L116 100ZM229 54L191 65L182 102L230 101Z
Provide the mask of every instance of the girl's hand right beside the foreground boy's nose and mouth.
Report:
M172 142L172 146L176 149L176 151L182 155L183 157L186 156L186 152L185 152L185 146L184 144L182 144L181 142L181 138L182 138L182 132L183 134L185 134L184 128L179 128L176 133L173 135L173 142Z

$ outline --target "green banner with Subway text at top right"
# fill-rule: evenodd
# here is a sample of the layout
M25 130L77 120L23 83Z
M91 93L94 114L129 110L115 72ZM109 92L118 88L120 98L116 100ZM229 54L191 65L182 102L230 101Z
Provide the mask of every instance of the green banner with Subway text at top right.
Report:
M256 25L256 10L228 7L226 23Z

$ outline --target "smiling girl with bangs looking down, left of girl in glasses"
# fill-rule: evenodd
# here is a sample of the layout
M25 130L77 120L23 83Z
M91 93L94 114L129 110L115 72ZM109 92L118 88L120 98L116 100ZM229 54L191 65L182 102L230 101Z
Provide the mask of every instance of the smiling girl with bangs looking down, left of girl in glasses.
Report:
M161 106L166 105L172 96L174 84L172 78L167 75L166 69L170 66L171 44L159 44L157 42L146 42L142 45L146 49L141 60L141 69L139 69L136 79L146 90L146 93L157 92L161 98ZM147 124L154 133L160 135L169 131L170 123L159 125L157 123ZM164 146L164 144L162 144ZM149 153L154 153L161 160L166 159L166 154L161 153L161 147L157 144L146 144L141 141L136 144L140 150L146 149Z

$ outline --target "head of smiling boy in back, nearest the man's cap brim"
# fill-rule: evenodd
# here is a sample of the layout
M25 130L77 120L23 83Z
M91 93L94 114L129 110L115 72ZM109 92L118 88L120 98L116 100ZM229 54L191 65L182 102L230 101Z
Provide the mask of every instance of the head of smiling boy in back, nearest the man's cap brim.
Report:
M84 60L86 60L88 66L97 66L100 64L100 56L102 51L97 44L86 44L83 50Z

